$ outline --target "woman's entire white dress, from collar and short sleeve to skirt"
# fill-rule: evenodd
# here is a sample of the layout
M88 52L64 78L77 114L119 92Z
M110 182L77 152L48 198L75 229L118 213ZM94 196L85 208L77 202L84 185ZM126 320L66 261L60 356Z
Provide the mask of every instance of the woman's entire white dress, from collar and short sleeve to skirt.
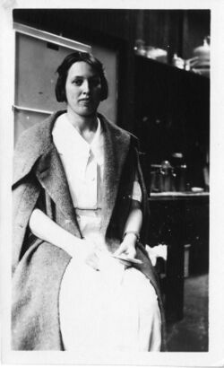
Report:
M53 140L65 168L82 235L104 248L100 235L104 138L98 127L90 145L63 114ZM133 199L142 200L138 180ZM60 328L65 350L159 351L160 313L149 280L135 268L104 253L99 271L72 258L59 295Z

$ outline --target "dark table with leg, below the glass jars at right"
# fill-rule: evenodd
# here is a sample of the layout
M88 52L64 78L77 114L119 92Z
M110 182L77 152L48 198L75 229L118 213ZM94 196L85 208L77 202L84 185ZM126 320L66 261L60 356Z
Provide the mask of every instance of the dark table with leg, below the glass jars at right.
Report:
M148 243L168 246L160 277L167 320L180 320L184 316L185 261L190 276L209 271L209 196L152 196L150 208Z

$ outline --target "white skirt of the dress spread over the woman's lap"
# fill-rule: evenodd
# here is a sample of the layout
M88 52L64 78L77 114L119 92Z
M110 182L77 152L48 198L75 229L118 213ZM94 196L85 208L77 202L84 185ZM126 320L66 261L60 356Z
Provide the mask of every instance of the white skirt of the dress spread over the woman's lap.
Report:
M108 257L100 271L72 258L59 295L65 350L160 351L161 318L149 279Z

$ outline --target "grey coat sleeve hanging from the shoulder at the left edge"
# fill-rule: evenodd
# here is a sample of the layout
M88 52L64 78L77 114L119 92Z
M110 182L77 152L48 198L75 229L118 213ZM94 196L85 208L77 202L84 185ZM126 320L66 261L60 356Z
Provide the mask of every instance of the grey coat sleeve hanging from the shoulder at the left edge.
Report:
M40 126L41 129L37 125L22 133L13 155L13 270L21 258L30 214L41 189L34 172L39 157L47 147L44 144L45 125Z

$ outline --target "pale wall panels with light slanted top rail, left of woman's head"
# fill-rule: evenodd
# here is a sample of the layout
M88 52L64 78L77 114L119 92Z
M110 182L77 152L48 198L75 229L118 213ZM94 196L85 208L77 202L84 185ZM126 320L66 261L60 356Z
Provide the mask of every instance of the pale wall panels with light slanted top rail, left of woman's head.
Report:
M74 49L91 50L89 45L21 24L15 29L14 143L24 129L65 109L65 103L56 101L56 69Z

